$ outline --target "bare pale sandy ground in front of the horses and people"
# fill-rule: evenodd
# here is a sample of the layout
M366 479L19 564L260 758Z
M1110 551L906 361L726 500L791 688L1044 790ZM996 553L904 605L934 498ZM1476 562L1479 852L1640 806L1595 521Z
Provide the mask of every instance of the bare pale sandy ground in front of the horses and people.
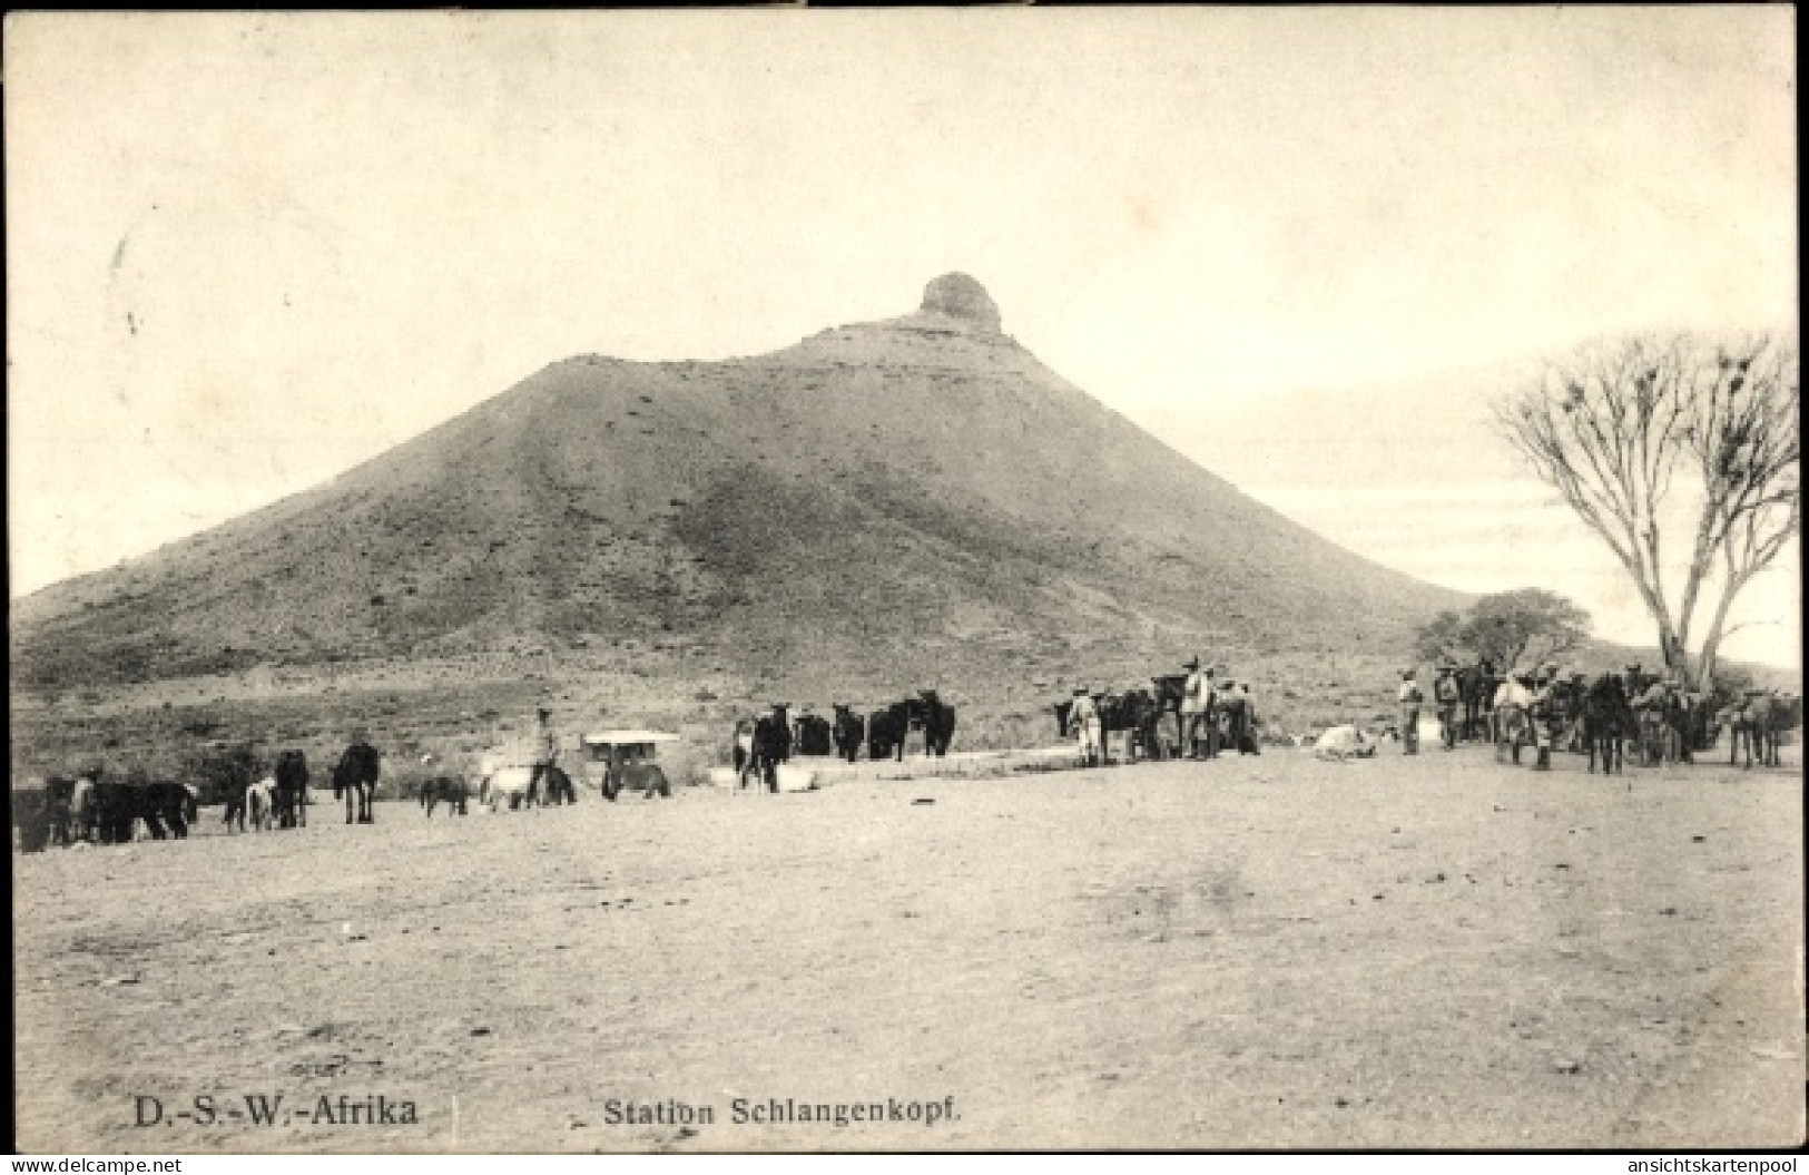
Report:
M14 856L18 1144L1800 1142L1800 771L1559 768L1272 751L371 827L320 806ZM378 1095L416 1121L342 1121ZM738 1097L953 1115L738 1124Z

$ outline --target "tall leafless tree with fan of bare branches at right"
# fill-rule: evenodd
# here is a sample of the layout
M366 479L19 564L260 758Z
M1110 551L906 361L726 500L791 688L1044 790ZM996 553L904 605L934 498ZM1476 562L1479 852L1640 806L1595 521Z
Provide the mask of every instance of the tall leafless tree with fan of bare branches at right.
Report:
M1507 440L1632 576L1666 668L1695 688L1713 679L1735 597L1798 530L1798 378L1796 348L1780 339L1641 335L1550 362L1496 406ZM1679 471L1700 512L1693 534L1666 536L1661 514ZM1666 538L1688 556L1675 605ZM1691 657L1704 590L1720 597Z

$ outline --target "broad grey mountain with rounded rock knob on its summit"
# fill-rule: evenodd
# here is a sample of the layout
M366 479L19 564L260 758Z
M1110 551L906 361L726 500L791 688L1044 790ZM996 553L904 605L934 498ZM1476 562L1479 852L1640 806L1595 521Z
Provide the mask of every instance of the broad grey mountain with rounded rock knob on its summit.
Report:
M772 355L554 364L309 492L18 601L13 673L664 634L753 677L980 688L1196 650L1388 654L1454 603L1136 429L948 275L915 313Z

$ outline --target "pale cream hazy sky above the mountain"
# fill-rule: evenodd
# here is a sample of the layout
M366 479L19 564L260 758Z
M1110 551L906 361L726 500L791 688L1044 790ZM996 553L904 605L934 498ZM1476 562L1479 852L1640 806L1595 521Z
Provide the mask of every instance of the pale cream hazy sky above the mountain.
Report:
M771 351L961 270L1335 541L1650 641L1469 406L1795 322L1793 49L1784 5L13 14L9 590L566 355ZM1306 418L1366 402L1328 462ZM1796 559L1729 652L1800 664Z

